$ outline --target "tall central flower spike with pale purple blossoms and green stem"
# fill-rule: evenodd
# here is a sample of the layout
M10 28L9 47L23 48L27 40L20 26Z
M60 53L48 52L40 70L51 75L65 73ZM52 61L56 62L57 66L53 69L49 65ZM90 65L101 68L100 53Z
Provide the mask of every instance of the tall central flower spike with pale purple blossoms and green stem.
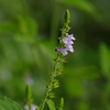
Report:
M55 61L55 65L54 65L54 69L53 73L51 74L51 80L50 84L46 86L46 90L45 90L45 95L43 98L43 101L40 106L40 110L43 110L45 107L45 102L48 98L54 98L54 94L52 92L52 90L54 88L58 88L59 87L59 82L56 79L56 76L58 76L59 74L62 74L63 69L58 66L58 64L65 62L64 56L66 56L69 52L74 52L73 45L74 42L72 40L76 40L73 34L68 35L68 31L70 30L70 28L68 26L69 23L69 11L66 10L65 14L64 14L64 28L61 29L62 31L62 37L59 38L59 47L55 48L55 52L57 52L57 57L54 59Z

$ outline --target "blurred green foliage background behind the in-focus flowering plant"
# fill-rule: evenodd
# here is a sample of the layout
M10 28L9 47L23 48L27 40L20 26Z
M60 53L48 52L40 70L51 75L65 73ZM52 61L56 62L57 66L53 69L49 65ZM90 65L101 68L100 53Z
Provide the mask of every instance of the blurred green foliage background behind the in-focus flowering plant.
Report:
M53 100L64 97L64 110L110 110L110 0L0 0L0 96L23 107L30 84L41 103L66 9L75 53Z

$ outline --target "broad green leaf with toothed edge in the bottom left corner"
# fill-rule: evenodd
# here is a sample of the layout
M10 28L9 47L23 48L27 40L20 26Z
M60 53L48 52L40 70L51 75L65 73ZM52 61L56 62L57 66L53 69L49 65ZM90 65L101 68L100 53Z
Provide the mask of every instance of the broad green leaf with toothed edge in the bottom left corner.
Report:
M0 97L0 110L23 110L16 102L7 97Z

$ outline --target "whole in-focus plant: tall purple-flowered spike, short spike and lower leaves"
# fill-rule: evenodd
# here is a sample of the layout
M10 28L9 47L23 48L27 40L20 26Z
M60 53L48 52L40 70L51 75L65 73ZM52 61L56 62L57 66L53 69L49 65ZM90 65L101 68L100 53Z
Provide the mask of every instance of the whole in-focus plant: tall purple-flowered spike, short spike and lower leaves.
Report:
M33 105L32 100L32 94L31 94L31 87L26 85L26 105L24 106L25 110L43 110L45 107L45 103L47 103L50 110L63 110L64 107L64 99L61 98L61 101L58 102L57 107L54 106L54 102L52 101L52 98L54 98L54 92L52 90L54 88L59 87L58 79L56 79L56 76L61 75L63 73L63 68L59 67L59 64L65 62L65 56L68 54L68 52L74 52L73 44L76 38L73 34L68 34L68 31L70 28L68 26L69 23L69 11L66 10L64 15L64 26L61 29L62 36L58 37L59 40L59 47L55 47L55 52L57 52L57 56L54 59L55 65L53 68L53 72L50 77L50 84L46 85L45 95L40 106ZM10 100L7 97L0 97L0 110L23 110L18 103Z

